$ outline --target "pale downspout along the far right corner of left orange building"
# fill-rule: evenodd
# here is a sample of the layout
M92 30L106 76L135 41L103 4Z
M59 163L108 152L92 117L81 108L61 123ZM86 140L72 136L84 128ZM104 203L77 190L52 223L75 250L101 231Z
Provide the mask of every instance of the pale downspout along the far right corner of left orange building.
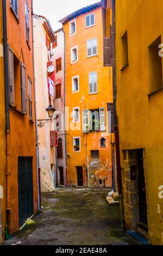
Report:
M35 54L34 54L34 26L33 26L33 0L32 0L32 45L33 45L33 75L34 75L34 97L35 97L35 129L36 129L36 154L37 154L37 193L38 209L41 210L41 180L39 161L39 136L37 127L37 103L36 103L36 77L35 77Z

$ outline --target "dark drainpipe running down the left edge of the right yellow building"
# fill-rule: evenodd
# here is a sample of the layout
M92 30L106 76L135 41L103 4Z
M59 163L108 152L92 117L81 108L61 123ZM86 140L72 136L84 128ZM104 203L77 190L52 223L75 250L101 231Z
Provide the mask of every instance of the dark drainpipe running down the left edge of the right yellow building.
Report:
M113 97L114 97L114 129L115 129L115 145L116 145L116 165L117 165L117 181L118 181L118 193L120 198L120 217L121 217L121 227L124 228L124 214L123 214L123 194L122 194L122 176L121 176L121 162L120 162L120 144L118 135L118 123L116 115L116 100L117 100L117 90L116 90L116 52L115 52L115 42L116 42L116 22L115 22L115 1L112 0L112 72L113 72Z

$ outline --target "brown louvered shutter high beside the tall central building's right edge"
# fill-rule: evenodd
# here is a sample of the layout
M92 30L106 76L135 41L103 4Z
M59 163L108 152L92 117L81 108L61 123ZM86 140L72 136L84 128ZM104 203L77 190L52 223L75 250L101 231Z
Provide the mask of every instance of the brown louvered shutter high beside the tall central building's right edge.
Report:
M104 38L104 66L112 66L111 38Z

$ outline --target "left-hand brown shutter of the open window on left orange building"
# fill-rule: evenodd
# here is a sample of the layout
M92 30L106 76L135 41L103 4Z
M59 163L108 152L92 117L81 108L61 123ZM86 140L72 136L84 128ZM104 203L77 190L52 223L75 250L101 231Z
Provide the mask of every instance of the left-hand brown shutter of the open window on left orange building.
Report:
M8 48L9 58L9 96L10 105L15 106L15 86L14 86L14 53L11 48Z

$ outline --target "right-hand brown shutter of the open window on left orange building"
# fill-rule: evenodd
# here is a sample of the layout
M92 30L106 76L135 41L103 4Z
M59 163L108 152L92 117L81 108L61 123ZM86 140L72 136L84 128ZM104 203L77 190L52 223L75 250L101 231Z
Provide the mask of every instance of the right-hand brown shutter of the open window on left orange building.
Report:
M22 113L27 114L26 68L21 62Z

